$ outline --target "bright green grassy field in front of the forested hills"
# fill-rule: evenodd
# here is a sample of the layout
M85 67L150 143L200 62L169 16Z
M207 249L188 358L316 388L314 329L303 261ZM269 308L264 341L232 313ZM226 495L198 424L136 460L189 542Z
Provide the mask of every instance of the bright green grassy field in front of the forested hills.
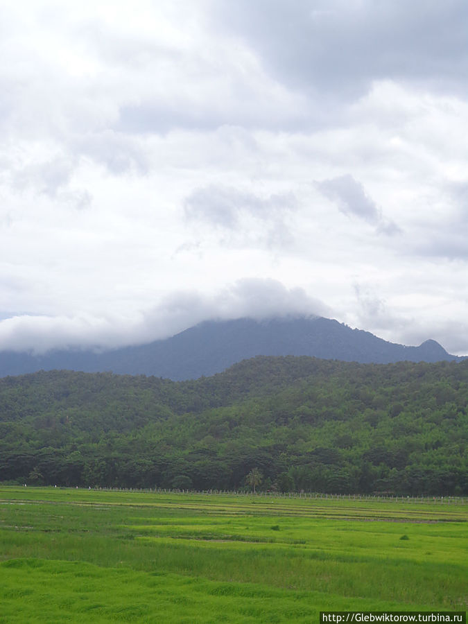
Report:
M0 487L0 623L465 610L467 518L460 502Z

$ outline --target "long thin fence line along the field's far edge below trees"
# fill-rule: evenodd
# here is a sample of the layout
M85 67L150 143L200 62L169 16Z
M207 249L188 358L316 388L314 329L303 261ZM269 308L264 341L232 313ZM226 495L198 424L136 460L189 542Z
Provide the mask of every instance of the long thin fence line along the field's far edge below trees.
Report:
M92 489L99 492L143 492L148 494L192 494L202 496L204 494L216 496L255 496L255 498L271 499L322 499L336 501L388 501L409 503L447 503L465 504L466 496L391 496L383 494L329 494L320 492L256 492L255 494L245 489L170 489L164 487L101 487L94 486Z

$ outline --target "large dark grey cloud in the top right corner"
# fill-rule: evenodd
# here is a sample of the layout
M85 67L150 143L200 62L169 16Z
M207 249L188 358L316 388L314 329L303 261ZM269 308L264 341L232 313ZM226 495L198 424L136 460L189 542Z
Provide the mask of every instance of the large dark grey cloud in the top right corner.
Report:
M463 0L225 0L217 6L218 23L294 87L356 98L372 81L390 78L466 93Z

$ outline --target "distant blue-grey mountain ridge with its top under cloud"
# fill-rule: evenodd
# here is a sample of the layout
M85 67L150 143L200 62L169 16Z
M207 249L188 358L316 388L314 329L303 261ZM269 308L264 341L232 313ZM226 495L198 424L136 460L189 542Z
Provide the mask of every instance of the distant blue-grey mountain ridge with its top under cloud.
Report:
M447 353L435 340L406 347L327 318L241 318L205 321L165 340L103 353L70 349L34 355L3 351L0 376L55 369L198 379L257 355L380 364L461 359Z

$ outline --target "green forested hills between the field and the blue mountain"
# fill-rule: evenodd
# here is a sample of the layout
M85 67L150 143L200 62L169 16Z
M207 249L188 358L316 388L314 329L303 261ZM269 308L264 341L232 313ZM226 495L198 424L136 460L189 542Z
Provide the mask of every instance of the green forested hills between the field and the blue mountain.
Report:
M468 493L468 361L259 356L196 381L0 379L0 481L28 485ZM250 478L249 478L250 475Z

